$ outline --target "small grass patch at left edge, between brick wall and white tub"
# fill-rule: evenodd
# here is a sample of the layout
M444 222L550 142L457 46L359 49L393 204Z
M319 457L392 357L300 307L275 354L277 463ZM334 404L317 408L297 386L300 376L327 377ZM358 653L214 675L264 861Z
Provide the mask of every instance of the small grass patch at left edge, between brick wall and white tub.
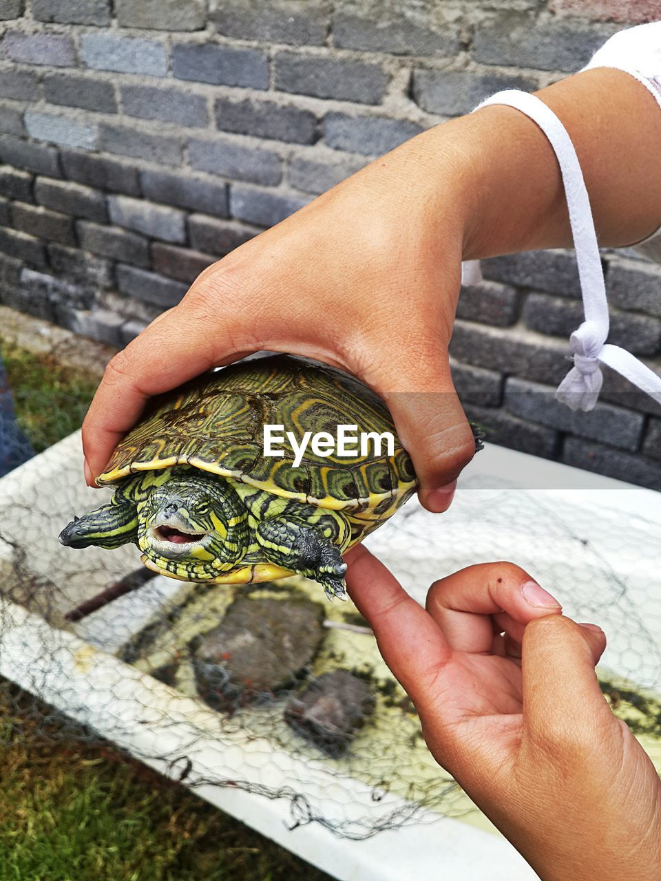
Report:
M82 425L97 381L0 338L0 356L14 392L19 425L35 452L50 447Z

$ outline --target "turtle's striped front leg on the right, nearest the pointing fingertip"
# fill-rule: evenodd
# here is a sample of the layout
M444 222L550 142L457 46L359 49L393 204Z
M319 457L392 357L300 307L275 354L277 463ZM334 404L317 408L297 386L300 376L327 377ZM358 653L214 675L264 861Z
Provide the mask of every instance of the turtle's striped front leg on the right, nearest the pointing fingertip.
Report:
M294 517L268 517L257 524L256 539L271 563L323 586L326 596L346 598L346 563L337 544L321 529Z

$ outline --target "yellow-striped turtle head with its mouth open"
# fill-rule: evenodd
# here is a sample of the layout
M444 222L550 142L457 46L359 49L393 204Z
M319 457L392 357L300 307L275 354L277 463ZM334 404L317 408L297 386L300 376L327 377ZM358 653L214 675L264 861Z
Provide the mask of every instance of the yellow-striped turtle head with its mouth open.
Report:
M137 546L163 574L207 581L234 568L249 543L247 512L216 475L173 469L137 505Z

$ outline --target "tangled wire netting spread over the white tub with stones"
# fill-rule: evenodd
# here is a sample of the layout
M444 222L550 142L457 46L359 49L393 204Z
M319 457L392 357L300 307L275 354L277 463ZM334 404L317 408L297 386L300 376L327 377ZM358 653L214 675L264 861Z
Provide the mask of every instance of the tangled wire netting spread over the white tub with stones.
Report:
M132 546L61 547L63 524L105 492L82 485L80 465L72 436L0 481L0 674L7 694L13 682L34 696L45 737L107 738L193 788L286 799L293 826L353 839L441 813L475 820L352 603L298 578L150 578ZM661 757L661 523L646 511L621 510L617 492L575 502L469 477L449 514L412 500L368 544L420 600L470 563L524 566L605 628L603 690Z

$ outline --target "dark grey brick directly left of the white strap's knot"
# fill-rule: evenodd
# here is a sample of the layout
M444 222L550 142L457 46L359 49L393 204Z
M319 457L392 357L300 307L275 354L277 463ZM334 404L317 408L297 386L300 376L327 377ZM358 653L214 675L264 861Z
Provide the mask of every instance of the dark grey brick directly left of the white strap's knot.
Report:
M449 351L466 364L557 385L568 372L568 344L457 319Z

